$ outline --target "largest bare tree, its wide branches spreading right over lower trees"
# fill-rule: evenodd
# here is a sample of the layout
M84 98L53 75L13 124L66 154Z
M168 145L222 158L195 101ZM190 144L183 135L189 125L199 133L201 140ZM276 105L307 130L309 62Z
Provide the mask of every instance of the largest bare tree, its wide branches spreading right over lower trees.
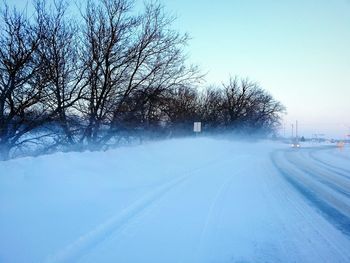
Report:
M146 104L149 116L157 111L156 96L200 78L195 67L185 66L188 37L170 29L173 19L162 7L146 5L136 17L130 7L126 0L103 0L90 3L84 16L89 73L82 112L89 116L84 135L89 144L104 145L128 126L130 116L144 114ZM141 100L140 94L147 96ZM132 103L136 97L138 103Z

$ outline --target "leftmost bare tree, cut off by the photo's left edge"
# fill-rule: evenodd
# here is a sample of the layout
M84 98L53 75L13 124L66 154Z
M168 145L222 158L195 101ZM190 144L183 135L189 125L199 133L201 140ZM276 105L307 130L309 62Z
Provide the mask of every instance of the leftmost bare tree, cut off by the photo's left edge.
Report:
M10 150L21 139L42 124L42 90L32 85L38 72L36 51L41 39L41 14L31 23L25 12L5 5L0 21L0 154L9 157Z

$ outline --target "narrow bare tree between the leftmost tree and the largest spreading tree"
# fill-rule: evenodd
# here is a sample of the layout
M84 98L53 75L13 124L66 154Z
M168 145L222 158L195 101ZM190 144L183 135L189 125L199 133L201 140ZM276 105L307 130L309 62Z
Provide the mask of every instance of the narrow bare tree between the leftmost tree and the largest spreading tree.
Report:
M47 8L37 1L36 8L43 10L42 40L38 47L40 74L38 86L42 86L45 104L54 124L62 129L59 143L74 144L74 105L83 92L84 68L79 60L78 28L65 16L68 3L55 1ZM56 125L55 125L56 127ZM55 132L61 135L61 132Z

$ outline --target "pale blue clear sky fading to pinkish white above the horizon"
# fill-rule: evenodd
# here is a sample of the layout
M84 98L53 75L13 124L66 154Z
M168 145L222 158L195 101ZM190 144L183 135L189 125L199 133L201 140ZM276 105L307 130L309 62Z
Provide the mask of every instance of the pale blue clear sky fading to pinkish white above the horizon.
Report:
M208 84L257 81L287 107L287 134L296 119L307 136L350 133L350 0L160 2Z

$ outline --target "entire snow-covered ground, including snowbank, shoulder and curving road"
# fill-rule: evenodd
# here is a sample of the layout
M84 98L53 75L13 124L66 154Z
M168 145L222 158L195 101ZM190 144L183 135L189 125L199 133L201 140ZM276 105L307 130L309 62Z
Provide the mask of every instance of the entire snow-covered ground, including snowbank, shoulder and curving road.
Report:
M169 140L0 163L0 262L350 262L350 149Z

